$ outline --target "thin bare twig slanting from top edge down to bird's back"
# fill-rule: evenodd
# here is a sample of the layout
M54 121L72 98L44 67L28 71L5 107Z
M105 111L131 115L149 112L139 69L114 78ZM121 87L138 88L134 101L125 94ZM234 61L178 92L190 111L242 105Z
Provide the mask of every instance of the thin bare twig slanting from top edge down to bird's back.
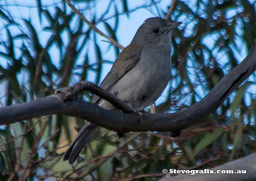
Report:
M74 5L69 1L69 0L65 0L65 2L68 4L68 6L84 21L84 23L86 23L87 25L89 25L91 27L91 29L93 29L93 31L95 31L97 34L105 37L107 40L109 40L110 43L112 43L113 45L115 45L116 47L120 48L121 50L124 49L123 46L121 46L120 44L118 44L114 39L110 38L109 36L103 34L98 28L96 28L94 26L94 24L90 23L83 15L82 13L80 13L75 7Z

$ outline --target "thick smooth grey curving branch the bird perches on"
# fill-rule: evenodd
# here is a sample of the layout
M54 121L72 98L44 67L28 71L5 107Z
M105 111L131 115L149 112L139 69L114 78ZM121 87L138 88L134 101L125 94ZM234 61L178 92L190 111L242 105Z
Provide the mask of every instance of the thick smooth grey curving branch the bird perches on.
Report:
M124 114L112 112L83 100L63 101L61 93L36 101L0 108L0 124L10 124L42 115L65 114L87 119L95 125L117 132L128 131L178 131L194 125L200 119L213 113L225 99L256 70L256 42L246 58L221 81L200 102L177 113Z

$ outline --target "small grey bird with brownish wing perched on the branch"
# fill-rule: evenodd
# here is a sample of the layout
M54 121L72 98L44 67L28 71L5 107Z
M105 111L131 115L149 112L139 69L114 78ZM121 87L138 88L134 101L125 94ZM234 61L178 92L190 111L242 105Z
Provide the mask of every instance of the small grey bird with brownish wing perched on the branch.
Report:
M117 56L99 87L137 110L143 110L154 103L170 80L172 31L180 24L169 23L161 17L146 19L131 43ZM97 95L93 96L91 102L103 109L117 110ZM97 127L86 122L68 147L63 160L73 164Z

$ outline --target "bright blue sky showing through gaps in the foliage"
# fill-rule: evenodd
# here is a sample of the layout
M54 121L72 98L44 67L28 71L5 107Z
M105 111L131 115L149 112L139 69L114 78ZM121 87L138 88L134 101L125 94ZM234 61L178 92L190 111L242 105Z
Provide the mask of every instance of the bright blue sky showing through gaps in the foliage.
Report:
M96 15L99 18L102 15L102 13L106 11L106 8L108 8L109 1L110 0L99 0L99 1L97 1L96 4L89 4L89 6L91 5L91 6L93 6L93 8L90 8L89 10L85 10L85 11L81 11L81 12L89 21L93 18L94 12L97 12ZM207 0L205 0L205 1L207 2ZM122 4L120 2L121 1L117 0L116 4L120 6L120 9L122 9ZM190 7L192 10L193 9L195 10L196 0L186 1L186 2L188 4L188 7ZM50 13L52 15L54 15L56 13L56 9L53 7L52 4L56 4L56 6L63 9L62 4L60 3L60 0L42 0L41 3L42 3L42 6L44 6L44 8L47 8L48 11L50 11ZM148 1L145 1L145 0L128 1L128 8L129 8L129 10L131 10L131 9L135 9L136 7L140 7L140 6L148 5L148 4L149 4ZM117 34L116 34L118 43L120 43L122 46L126 47L131 42L135 32L137 31L137 29L139 28L139 26L143 23L143 21L145 19L147 19L148 17L154 17L154 16L164 17L163 12L158 11L157 8L162 9L163 11L167 12L168 11L167 6L169 6L170 4L171 4L170 0L161 0L160 3L158 3L156 6L151 6L148 8L140 8L140 9L137 9L136 11L129 13L129 17L127 17L126 15L120 15ZM45 47L50 36L52 35L52 32L43 30L43 28L49 24L44 16L42 16L42 21L40 22L39 17L38 17L37 4L36 4L35 0L5 0L5 1L0 1L0 5L3 6L5 9L7 9L7 11L10 13L10 15L12 17L14 17L14 20L17 23L21 24L21 27L19 27L19 28L22 29L22 31L27 32L27 29L25 28L25 26L23 26L23 22L22 22L21 18L30 20L38 33L38 39L39 39L40 44L43 47ZM88 9L88 4L79 3L79 4L75 4L75 7L78 9ZM200 8L201 8L200 10L202 11L201 16L204 18L207 18L206 13L203 11L205 7L202 6ZM241 7L229 9L226 12L225 16L233 17L234 15L241 12L242 10L243 9ZM68 7L67 14L69 14L71 12L72 12L72 10ZM106 17L111 17L113 15L114 15L114 9L113 9L113 7L110 7L108 15ZM172 18L173 17L174 16L172 16ZM77 28L76 22L78 20L79 20L78 16L76 16L74 19L72 19L72 21L70 23L71 27L76 29ZM176 20L181 21L183 23L182 25L180 25L180 27L178 27L178 29L185 28L183 36L185 36L185 37L192 36L193 27L195 26L197 21L193 20L189 15L186 15L186 14L182 14L182 15L178 16ZM112 26L114 25L114 19L109 19L106 22ZM3 41L5 40L4 34L6 34L5 29L4 29L5 24L6 23L3 20L0 21L0 38ZM105 31L105 27L104 27L103 23L98 23L96 25L96 27L98 29L100 29L103 33L108 35L108 33ZM17 28L16 26L8 27L12 36L20 33L19 28ZM88 25L84 24L83 28L84 28L84 30L88 29ZM242 25L241 25L241 27L237 26L236 31L238 32L239 35L242 35L244 33L242 30ZM215 58L218 60L218 63L223 66L229 61L228 57L226 55L226 52L220 51L220 47L218 47L218 46L216 46L216 47L213 46L215 44L215 42L218 40L219 36L221 36L221 33L213 32L212 34L206 35L201 40L201 43L204 44L205 46L207 46L209 48L209 50L212 50L213 54L215 55ZM62 31L61 37L62 37L62 40L64 43L64 47L67 47L68 42L70 41L68 31L65 31L65 30ZM102 51L102 59L108 60L110 62L114 62L114 60L116 59L116 55L114 54L113 46L110 46L110 48L109 48L109 43L103 42L106 39L103 38L102 36L96 35L96 38L97 38L97 44L99 45L99 47ZM82 40L83 40L83 37L81 36L79 41L82 42ZM21 40L15 40L14 45L16 47L20 47L21 43L22 43ZM239 50L239 52L234 51L234 56L236 57L238 63L240 63L247 55L248 50L247 50L245 43L242 42L239 38L236 40L236 43L239 45L239 47L241 47L241 50ZM230 44L231 49L232 49L232 47L233 47L233 44ZM1 46L0 46L0 51L4 51L3 47L1 47ZM175 51L175 50L173 50L173 51ZM52 63L57 68L59 68L61 66L61 56L60 56L60 50L58 49L58 47L56 45L53 45L48 49L48 52L50 54ZM86 52L88 52L88 54L90 56L90 58L89 58L90 64L97 62L97 58L95 57L93 34L91 34L91 40L89 41L89 43L86 44L82 53L78 56L78 58L76 60L77 66L83 64ZM19 48L15 48L15 53L16 53L17 57L20 55ZM204 57L206 57L206 59L207 59L208 55L206 53L203 53L203 54L204 54ZM8 60L6 60L3 57L0 57L0 64L3 67L5 67L5 68L8 67L7 62L8 62ZM189 67L196 66L193 61L193 56L191 56L190 58L187 59L187 66L189 66ZM106 76L106 74L109 72L111 67L112 67L112 63L103 64L101 81ZM45 67L43 67L43 70L46 71ZM82 70L76 69L73 72L81 72L81 71ZM193 71L195 71L195 70L193 70L193 68L191 68L192 73L193 73ZM228 66L227 66L226 70L223 69L224 74L226 74L229 71L230 71L230 68ZM95 75L96 74L94 71L89 71L89 76L87 77L86 80L95 82ZM18 77L20 85L23 84L26 87L26 81L29 79L29 75L26 72L26 70L22 70L16 76ZM191 76L189 76L189 78L192 83L195 82L195 78L193 78L192 74L191 74ZM57 82L57 79L58 78L55 77L53 82L54 81ZM42 80L44 80L44 77L42 78ZM79 81L80 81L79 77L73 76L71 84L74 84ZM47 81L45 81L45 82L47 84ZM170 84L168 84L168 86L170 86ZM166 90L164 91L164 93L162 94L162 96L157 101L157 104L162 103L166 99L168 86L167 86ZM175 85L172 85L172 86L175 86ZM0 101L1 102L5 102L4 95L6 93L5 93L4 87L5 87L5 83L2 82L0 84L0 90L1 90L0 91ZM186 90L184 90L184 91L186 91ZM203 90L203 87L200 85L195 87L195 91L198 93L198 95L200 95L200 97L196 98L197 101L202 99L208 93L208 91Z

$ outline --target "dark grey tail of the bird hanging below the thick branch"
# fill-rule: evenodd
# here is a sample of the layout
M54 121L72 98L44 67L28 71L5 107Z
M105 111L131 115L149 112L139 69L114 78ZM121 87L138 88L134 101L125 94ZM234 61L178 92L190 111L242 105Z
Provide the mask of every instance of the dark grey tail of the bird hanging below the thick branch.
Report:
M97 127L97 125L87 122L68 147L66 153L64 154L63 161L68 160L69 164L73 164Z

